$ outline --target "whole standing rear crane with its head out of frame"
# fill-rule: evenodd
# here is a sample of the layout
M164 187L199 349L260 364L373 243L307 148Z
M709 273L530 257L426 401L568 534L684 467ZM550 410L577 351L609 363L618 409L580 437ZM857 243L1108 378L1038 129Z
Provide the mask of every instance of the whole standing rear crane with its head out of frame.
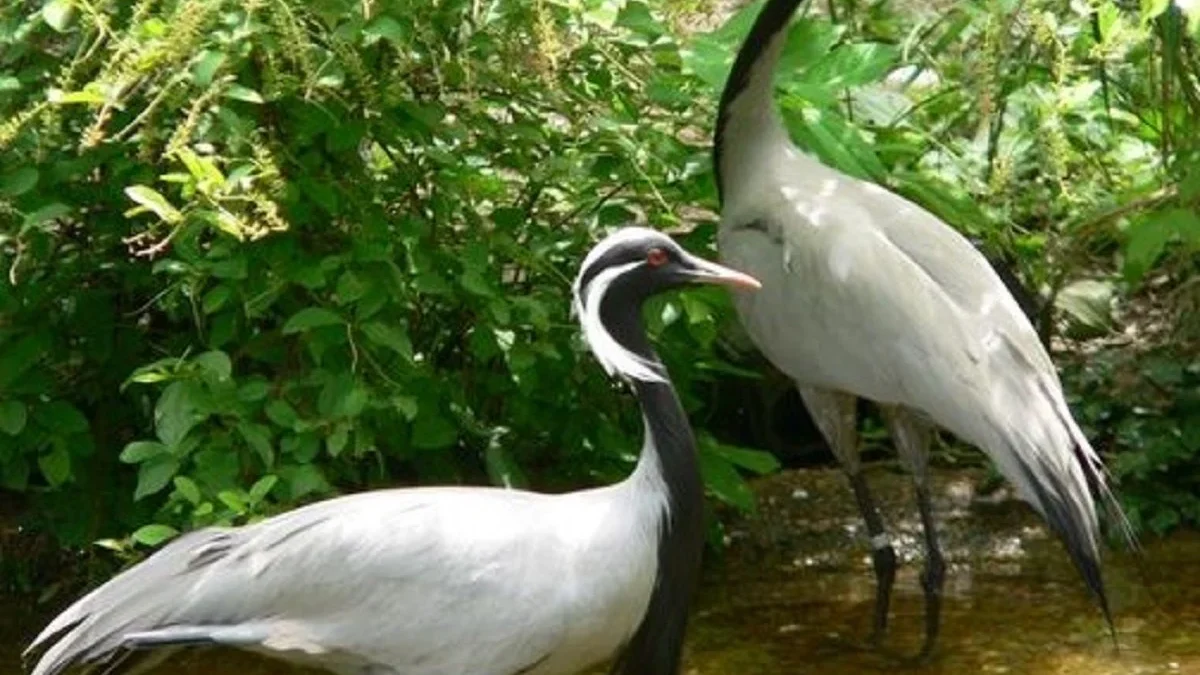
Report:
M762 282L734 298L740 321L794 381L850 477L874 549L872 637L887 629L895 551L862 474L856 398L880 405L916 483L926 550L920 657L937 640L946 567L930 503L934 424L982 448L1042 514L1111 628L1093 494L1132 533L1028 319L952 227L788 138L774 71L800 2L766 2L726 80L713 144L718 250Z

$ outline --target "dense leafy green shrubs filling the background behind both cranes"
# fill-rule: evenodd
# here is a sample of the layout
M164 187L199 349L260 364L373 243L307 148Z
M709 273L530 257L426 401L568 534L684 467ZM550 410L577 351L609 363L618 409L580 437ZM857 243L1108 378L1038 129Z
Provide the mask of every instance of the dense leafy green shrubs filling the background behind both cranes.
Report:
M636 411L569 282L635 219L712 255L707 136L756 8L6 2L0 490L124 549L340 489L619 477ZM1135 519L1200 522L1198 22L833 0L792 30L794 138L1007 259ZM760 362L720 292L649 313L748 508Z

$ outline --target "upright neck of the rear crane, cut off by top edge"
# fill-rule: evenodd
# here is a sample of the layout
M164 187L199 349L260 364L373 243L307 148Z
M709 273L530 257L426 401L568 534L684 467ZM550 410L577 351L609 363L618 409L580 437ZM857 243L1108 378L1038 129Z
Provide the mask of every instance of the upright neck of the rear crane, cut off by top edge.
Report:
M761 163L763 153L790 141L775 112L775 65L787 41L787 23L804 0L767 0L738 50L725 80L713 135L713 172L721 204L737 187L744 162Z

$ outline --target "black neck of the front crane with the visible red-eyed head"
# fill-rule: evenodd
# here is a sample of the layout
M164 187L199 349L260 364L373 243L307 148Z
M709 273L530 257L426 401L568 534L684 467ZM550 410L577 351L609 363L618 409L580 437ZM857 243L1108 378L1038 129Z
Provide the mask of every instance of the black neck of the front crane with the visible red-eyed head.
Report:
M616 291L616 289L614 289ZM632 301L631 301L632 300ZM666 372L641 318L641 301L606 293L601 319L624 348ZM646 438L631 480L636 489L665 491L654 592L641 625L613 664L614 675L674 675L679 670L688 608L704 546L704 491L696 441L670 380L634 380ZM662 495L650 495L652 497Z

